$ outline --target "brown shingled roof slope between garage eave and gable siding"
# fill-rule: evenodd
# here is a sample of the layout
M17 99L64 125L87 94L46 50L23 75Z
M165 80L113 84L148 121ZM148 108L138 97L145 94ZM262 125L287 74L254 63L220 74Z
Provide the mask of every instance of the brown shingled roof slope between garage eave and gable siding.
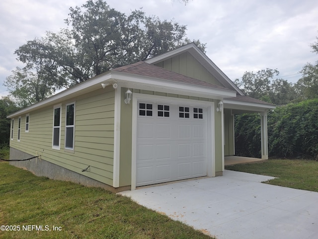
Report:
M199 85L199 86L205 86L205 87L210 87L210 88L216 88L220 90L229 90L225 87L214 85L211 83L207 83L204 81L200 81L188 76L184 76L181 74L178 74L176 72L168 71L164 68L146 63L144 61L140 61L128 66L122 66L113 69L112 71L117 71L117 72L125 72L129 74L134 74L134 75L140 75L140 76L147 76L147 77L153 77L153 78L159 78L159 79L164 79L164 80L170 80L170 81L176 81L176 82L182 82L182 83L188 83L188 84L193 84L193 85Z

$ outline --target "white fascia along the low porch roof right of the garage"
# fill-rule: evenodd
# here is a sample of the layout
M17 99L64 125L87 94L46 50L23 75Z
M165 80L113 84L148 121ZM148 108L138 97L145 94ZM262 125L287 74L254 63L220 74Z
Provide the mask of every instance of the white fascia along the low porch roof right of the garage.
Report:
M235 110L247 110L247 111L266 111L273 110L276 107L266 104L258 104L251 102L239 102L239 101L231 101L224 99L224 108L235 109Z

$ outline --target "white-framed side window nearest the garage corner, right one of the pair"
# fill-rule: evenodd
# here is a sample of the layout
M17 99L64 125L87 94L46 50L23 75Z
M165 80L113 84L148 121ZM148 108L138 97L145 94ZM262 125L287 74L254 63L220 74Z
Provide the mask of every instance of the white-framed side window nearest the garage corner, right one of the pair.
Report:
M75 103L66 105L65 148L74 149Z

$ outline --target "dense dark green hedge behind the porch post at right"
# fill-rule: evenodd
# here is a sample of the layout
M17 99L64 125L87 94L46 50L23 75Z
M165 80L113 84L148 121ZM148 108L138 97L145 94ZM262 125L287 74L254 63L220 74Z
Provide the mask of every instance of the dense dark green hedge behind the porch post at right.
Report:
M235 119L236 155L260 157L259 114ZM291 103L268 113L269 156L318 160L318 99Z

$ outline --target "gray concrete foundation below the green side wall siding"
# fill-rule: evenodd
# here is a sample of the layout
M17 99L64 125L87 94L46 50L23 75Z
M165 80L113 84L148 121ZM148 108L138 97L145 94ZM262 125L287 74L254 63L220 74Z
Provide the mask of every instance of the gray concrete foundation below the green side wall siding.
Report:
M10 147L10 160L26 159L31 158L33 156L34 155L30 155L28 153ZM36 176L45 176L50 179L70 181L87 187L103 188L105 190L109 190L115 193L131 189L130 186L114 188L110 185L96 181L92 178L86 177L84 175L73 172L69 169L63 168L59 165L50 163L40 158L33 158L26 161L12 161L10 162L10 165L28 170Z

